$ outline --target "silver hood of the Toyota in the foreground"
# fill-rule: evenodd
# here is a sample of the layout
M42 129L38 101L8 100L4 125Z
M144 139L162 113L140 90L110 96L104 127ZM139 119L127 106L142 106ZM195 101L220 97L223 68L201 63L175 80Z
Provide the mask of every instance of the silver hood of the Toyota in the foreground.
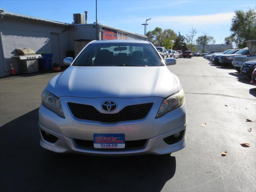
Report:
M178 92L178 86L166 66L70 66L46 89L58 97L165 98Z

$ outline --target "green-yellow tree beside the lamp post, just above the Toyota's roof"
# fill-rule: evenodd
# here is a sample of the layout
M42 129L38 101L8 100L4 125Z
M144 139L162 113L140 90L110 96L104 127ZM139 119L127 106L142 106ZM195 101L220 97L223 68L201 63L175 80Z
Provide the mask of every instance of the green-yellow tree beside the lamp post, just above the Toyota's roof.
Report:
M172 29L165 29L164 31L156 27L153 31L148 31L146 34L148 41L155 46L164 46L166 49L172 49L174 40L177 38L176 33Z

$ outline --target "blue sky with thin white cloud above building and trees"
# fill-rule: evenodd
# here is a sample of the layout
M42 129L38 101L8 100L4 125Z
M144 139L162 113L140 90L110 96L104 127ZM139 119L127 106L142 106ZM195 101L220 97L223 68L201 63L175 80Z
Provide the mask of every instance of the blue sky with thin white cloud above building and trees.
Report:
M88 11L88 23L95 22L96 0L0 0L7 12L72 23L73 13ZM144 34L156 27L172 29L182 35L196 28L213 36L216 44L230 35L234 10L256 9L256 0L98 0L98 23Z

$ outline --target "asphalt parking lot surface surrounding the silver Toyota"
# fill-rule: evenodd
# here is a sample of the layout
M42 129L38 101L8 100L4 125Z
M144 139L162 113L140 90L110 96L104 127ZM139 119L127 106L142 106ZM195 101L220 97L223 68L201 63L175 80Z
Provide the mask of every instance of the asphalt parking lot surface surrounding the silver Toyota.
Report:
M202 57L179 58L168 68L182 83L187 108L187 145L171 156L44 150L38 107L56 73L0 79L0 190L255 191L256 127L246 122L256 120L255 86L233 68ZM227 155L221 156L224 151Z

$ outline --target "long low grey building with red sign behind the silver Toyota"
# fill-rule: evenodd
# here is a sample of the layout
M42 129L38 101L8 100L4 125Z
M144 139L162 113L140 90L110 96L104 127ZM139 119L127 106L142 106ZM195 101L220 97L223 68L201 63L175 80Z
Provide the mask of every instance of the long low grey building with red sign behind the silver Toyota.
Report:
M69 24L0 9L0 76L10 74L10 61L19 72L18 60L13 57L16 49L52 52L52 63L63 65L66 52L77 55L88 42L108 39L146 40L146 36L103 24L87 24L87 12L85 21Z

